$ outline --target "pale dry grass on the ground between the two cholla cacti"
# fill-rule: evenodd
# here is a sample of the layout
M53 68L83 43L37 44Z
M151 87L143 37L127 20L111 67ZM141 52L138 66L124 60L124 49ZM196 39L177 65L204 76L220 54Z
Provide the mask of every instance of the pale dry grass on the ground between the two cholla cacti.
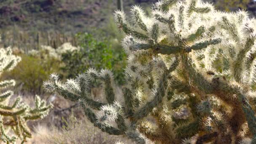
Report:
M72 125L72 124L71 124ZM114 144L123 141L125 144L132 144L127 139L120 139L120 136L110 136L95 128L88 120L80 120L72 125L72 128L47 128L39 125L33 139L29 143L34 144Z

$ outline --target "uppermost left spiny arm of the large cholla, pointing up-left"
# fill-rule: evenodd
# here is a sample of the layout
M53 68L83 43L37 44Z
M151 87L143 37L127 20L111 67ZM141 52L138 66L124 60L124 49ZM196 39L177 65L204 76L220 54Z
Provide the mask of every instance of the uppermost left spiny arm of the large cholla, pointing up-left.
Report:
M120 29L122 29L123 32L125 32L125 34L133 35L134 37L137 37L141 40L149 38L147 35L139 33L137 31L131 29L131 27L128 26L127 22L125 21L125 14L124 14L123 11L116 11L115 12L115 19L117 21L117 24L119 25L118 27L120 27Z

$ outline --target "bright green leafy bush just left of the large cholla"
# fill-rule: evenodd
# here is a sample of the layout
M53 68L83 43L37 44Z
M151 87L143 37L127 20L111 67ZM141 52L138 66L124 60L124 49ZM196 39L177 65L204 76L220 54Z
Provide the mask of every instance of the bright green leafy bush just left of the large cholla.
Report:
M98 41L91 34L77 34L79 49L67 51L61 56L65 66L62 70L67 77L75 77L90 67L96 69L107 68L115 72L116 80L123 83L123 68L125 66L125 53L115 50L107 41ZM118 53L119 52L119 53Z

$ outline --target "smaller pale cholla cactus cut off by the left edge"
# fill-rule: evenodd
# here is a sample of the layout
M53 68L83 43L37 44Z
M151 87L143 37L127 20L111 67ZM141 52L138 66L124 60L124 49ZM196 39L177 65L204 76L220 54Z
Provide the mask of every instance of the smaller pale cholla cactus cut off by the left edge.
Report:
M0 48L0 74L3 71L9 71L13 69L20 61L20 57L14 56L10 48ZM35 99L35 108L30 108L27 104L21 101L21 97L12 99L13 91L7 90L8 87L14 86L14 80L4 80L0 82L0 89L3 91L0 94L0 141L6 143L14 143L16 136L18 136L23 142L27 138L32 136L29 128L26 125L28 120L36 120L45 117L51 104L46 104L41 100L39 96ZM10 133L14 133L16 136L8 136Z

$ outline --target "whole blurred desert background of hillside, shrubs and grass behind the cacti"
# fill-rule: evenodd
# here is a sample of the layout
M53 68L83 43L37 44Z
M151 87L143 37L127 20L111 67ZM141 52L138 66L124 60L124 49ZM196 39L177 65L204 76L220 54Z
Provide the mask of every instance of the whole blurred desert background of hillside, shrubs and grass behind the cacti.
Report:
M75 104L46 93L43 81L53 72L66 80L94 67L111 69L117 87L121 87L127 56L120 44L123 34L112 14L118 8L129 16L132 5L141 5L150 15L152 3L157 1L0 0L0 46L10 46L22 58L18 66L4 73L1 79L15 79L16 96L23 96L28 103L37 94L54 105L48 117L30 122L35 135L31 143L109 144L119 140L87 124ZM205 2L213 3L221 11L244 9L249 16L256 16L256 0ZM96 99L101 99L99 86L96 83L92 91Z

